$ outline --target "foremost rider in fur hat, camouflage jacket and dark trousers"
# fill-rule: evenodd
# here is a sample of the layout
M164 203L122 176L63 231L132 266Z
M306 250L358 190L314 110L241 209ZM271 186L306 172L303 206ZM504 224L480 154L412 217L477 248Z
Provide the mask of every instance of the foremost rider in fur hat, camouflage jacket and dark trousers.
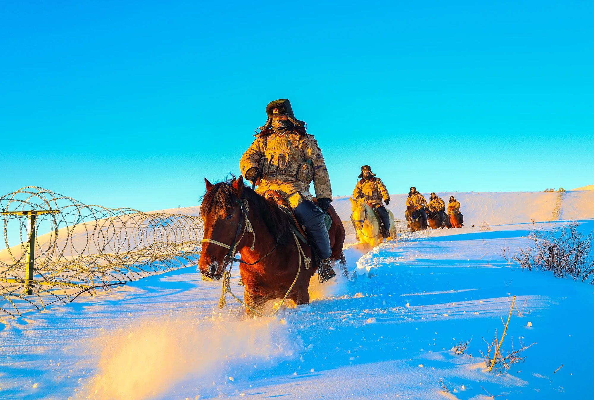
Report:
M314 136L305 132L305 122L295 119L289 100L271 101L266 115L266 124L241 157L241 172L258 185L260 195L273 191L285 199L320 256L320 276L330 279L335 274L328 261L331 248L325 211L332 189L324 157ZM312 180L319 207L309 193Z

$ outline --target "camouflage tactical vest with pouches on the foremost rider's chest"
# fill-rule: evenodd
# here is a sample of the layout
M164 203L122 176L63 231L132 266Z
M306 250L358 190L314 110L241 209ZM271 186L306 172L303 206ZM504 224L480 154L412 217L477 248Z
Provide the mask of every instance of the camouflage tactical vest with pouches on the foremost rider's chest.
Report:
M264 178L281 175L309 184L314 177L311 160L305 160L299 148L302 136L298 134L271 134L266 138L264 157L258 167ZM274 179L274 177L272 177Z

